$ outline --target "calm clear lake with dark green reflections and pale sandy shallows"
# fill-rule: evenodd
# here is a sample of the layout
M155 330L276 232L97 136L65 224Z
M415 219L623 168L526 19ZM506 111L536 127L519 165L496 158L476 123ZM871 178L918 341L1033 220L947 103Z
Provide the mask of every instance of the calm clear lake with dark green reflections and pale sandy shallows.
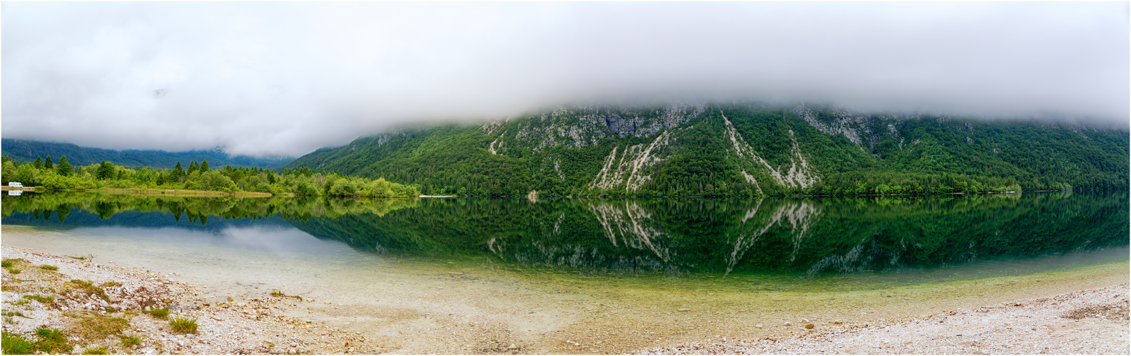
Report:
M524 351L623 353L794 332L746 330L791 318L866 321L1077 290L1126 281L1129 266L1126 191L0 199L6 228L34 227L6 229L6 245L176 272L208 285L215 298L307 292L353 312L297 316L387 337L389 349L377 351L491 350L433 332L442 327L482 329L498 342L529 345ZM417 316L389 316L407 312ZM650 333L627 337L637 329ZM404 330L420 335L405 338ZM589 344L579 348L561 339Z

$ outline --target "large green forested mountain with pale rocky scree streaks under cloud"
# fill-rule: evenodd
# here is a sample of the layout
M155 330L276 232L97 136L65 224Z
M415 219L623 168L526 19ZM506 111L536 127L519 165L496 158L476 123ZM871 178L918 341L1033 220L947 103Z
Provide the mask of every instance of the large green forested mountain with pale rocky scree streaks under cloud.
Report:
M359 138L286 167L422 193L752 196L1125 189L1128 131L814 106L568 106Z

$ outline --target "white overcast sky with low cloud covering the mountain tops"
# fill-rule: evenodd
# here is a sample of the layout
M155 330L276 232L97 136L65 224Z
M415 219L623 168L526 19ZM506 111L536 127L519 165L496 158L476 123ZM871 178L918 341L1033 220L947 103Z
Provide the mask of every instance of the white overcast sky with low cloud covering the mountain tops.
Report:
M578 101L1126 128L1128 2L3 2L2 136L299 156Z

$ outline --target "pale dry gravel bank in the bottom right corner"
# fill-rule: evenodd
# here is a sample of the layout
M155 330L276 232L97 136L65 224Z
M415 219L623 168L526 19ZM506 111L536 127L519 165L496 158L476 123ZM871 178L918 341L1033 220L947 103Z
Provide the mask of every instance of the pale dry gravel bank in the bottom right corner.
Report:
M644 353L1126 355L1128 309L1128 284L1122 284L870 325L839 327L834 321L821 325L832 331L800 337L694 342Z

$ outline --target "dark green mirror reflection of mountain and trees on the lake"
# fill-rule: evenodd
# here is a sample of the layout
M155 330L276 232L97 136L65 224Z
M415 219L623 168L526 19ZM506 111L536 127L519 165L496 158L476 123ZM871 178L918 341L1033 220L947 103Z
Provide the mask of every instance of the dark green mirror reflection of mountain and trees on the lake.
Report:
M392 257L612 272L817 276L1129 244L1126 191L537 202L97 193L0 199L3 224L239 232L241 244L309 234Z

